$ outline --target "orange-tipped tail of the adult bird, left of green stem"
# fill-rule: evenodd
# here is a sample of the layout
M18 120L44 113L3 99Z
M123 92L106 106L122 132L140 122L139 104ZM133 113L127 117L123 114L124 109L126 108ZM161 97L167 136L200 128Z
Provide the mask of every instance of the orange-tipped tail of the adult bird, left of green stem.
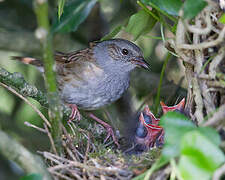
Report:
M12 60L20 61L24 64L31 64L35 66L39 71L44 72L44 66L42 61L32 58L32 57L21 57L21 56L12 56Z

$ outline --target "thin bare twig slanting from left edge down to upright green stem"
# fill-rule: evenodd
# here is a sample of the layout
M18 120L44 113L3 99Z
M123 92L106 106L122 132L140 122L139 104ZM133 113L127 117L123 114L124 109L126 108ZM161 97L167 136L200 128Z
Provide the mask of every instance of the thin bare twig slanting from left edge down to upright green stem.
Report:
M38 108L36 108L36 106L34 106L32 103L30 103L30 101L28 101L25 97L23 97L21 94L19 94L14 89L12 89L11 87L7 86L6 84L3 84L3 83L0 82L0 85L3 86L4 88L8 89L10 92L12 92L13 94L15 94L16 96L18 96L22 100L24 100L35 112L37 112L37 114L48 125L48 127L51 127L51 125L48 122L47 118L41 113L41 111Z

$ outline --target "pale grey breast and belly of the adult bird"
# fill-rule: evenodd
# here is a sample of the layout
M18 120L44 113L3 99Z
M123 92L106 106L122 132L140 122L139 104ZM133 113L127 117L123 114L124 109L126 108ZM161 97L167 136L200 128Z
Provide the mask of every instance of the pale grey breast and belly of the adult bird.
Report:
M70 80L61 85L61 96L64 102L79 108L92 110L110 104L129 87L129 74L108 74L91 63L79 73L73 72L66 75Z

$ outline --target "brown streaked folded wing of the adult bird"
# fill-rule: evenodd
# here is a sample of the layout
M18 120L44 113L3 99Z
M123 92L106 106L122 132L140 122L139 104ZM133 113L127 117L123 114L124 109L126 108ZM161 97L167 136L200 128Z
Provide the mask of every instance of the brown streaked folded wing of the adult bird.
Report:
M85 87L101 78L103 69L99 67L93 56L92 48L71 53L55 54L58 82L63 87L70 83L73 87Z

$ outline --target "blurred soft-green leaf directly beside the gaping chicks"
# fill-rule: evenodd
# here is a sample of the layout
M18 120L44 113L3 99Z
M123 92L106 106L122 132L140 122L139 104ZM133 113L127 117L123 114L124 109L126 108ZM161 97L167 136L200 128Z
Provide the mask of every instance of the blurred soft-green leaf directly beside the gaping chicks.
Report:
M160 119L160 125L165 130L165 145L163 156L172 158L180 154L180 142L185 133L196 126L186 116L177 112L168 112Z

